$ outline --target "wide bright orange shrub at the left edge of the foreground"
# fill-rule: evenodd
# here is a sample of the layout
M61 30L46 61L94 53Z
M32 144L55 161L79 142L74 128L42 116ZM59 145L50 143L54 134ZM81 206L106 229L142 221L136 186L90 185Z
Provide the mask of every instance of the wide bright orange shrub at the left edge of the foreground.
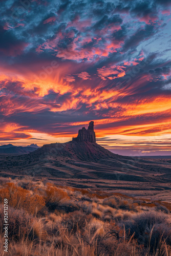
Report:
M0 189L0 203L8 199L8 205L14 209L24 209L30 214L37 214L44 206L45 199L38 195L32 195L29 190L16 186L14 183L6 183Z

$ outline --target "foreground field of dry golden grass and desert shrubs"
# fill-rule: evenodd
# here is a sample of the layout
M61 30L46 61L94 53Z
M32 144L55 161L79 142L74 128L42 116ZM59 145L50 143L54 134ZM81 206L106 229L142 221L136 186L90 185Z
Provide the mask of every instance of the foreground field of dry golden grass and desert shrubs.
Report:
M169 203L41 181L0 184L2 255L4 198L9 200L8 255L171 255Z

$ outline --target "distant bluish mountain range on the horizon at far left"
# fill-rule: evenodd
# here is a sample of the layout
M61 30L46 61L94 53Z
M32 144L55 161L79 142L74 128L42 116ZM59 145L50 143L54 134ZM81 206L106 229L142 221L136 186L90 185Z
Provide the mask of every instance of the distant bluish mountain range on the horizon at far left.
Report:
M0 146L0 154L28 154L37 150L39 146L37 144L31 144L28 146L14 146L12 144Z

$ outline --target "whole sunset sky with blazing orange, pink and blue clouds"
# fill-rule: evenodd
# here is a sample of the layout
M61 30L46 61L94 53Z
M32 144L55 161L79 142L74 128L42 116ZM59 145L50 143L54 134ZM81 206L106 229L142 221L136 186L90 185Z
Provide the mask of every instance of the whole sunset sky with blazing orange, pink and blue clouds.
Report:
M171 1L1 1L0 144L95 122L114 153L171 155Z

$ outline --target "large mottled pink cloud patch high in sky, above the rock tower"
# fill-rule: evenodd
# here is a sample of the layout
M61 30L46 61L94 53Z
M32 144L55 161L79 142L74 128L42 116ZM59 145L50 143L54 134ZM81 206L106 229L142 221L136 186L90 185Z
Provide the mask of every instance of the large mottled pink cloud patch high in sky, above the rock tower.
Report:
M79 20L79 18L77 19ZM77 19L72 23L72 26L78 25ZM81 29L85 28L89 24L91 24L90 20L87 24L83 24L84 27L79 27L79 31L81 32ZM69 26L70 25L68 24L68 27ZM79 24L78 26L81 25ZM113 25L112 28L115 28L115 30L119 29L118 25ZM113 40L113 38L111 38L111 33L109 33L109 31L109 34L107 33L106 35L103 34L103 32L100 31L98 36L94 36L90 33L88 36L82 37L80 34L76 38L74 38L74 31L65 33L59 32L56 34L55 38L48 39L46 42L44 42L44 44L39 45L36 49L36 52L40 53L43 52L45 49L49 49L57 52L56 57L77 61L84 61L84 59L87 59L88 61L93 61L95 59L97 60L102 57L108 57L110 53L117 52L117 50L122 47L124 41ZM70 42L67 48L60 47L59 41L67 37L73 38L73 40ZM104 39L103 43L102 39ZM90 42L93 42L93 45L91 47L89 46Z

